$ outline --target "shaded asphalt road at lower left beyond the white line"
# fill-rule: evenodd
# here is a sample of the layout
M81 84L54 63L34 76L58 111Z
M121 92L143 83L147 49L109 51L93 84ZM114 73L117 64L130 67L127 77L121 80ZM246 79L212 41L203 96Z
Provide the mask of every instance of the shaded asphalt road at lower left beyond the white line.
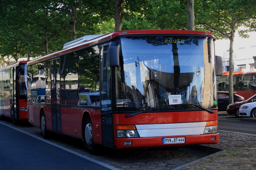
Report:
M0 123L0 169L116 169L89 160Z

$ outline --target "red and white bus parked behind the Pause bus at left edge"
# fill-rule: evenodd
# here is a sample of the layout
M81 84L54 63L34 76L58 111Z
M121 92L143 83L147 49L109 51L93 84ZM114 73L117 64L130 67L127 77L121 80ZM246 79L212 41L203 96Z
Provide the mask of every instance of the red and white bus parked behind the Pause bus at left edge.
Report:
M28 119L26 73L27 62L19 61L0 69L0 118L10 117L13 123Z

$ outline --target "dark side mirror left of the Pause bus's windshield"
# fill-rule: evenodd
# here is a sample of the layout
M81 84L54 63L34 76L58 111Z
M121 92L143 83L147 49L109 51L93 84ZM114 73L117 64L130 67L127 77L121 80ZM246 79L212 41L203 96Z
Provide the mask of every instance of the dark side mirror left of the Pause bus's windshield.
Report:
M119 66L119 50L120 50L120 44L117 41L110 42L109 44L110 67Z

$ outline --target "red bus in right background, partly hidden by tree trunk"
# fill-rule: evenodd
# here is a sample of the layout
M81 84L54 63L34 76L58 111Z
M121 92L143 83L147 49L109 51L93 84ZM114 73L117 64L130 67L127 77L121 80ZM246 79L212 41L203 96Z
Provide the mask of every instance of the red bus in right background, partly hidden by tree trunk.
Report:
M233 72L233 92L243 96L245 100L255 95L256 72ZM217 76L218 91L229 91L229 72Z

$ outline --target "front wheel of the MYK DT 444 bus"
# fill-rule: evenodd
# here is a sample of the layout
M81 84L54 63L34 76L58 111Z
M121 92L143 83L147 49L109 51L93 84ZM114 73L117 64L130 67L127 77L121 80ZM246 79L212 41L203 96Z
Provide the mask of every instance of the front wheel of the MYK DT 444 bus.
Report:
M85 123L83 125L83 145L86 147L90 154L98 154L99 147L93 141L92 121L90 116L86 117Z

